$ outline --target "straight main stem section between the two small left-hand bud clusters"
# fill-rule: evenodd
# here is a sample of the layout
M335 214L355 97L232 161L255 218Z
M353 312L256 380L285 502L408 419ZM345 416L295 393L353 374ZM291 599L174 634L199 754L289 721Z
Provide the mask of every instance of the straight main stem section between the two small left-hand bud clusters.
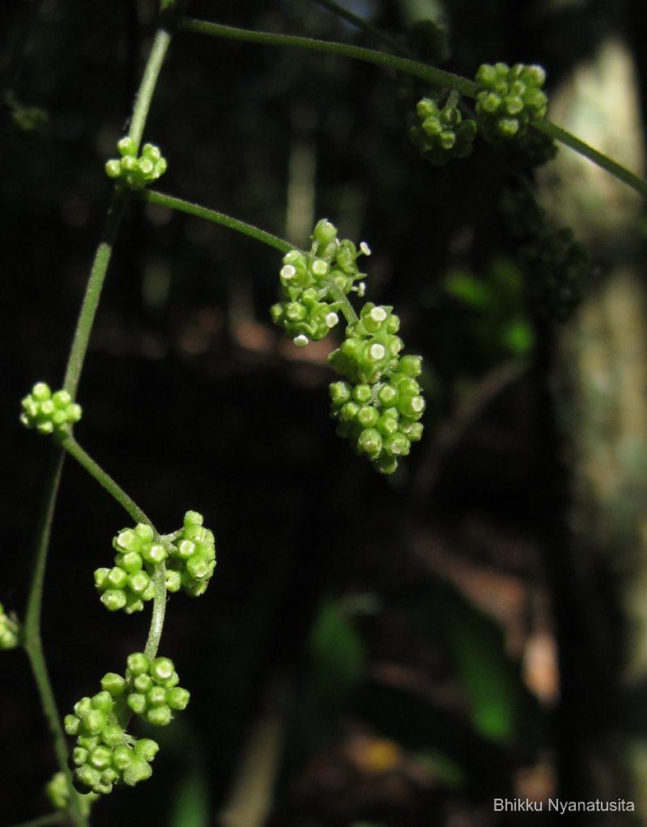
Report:
M99 299L101 299L103 282L105 281L108 265L113 255L114 241L117 237L119 225L122 222L125 207L126 201L115 191L110 206L108 207L108 215L103 225L101 241L99 241L97 250L94 253L94 261L90 269L88 285L85 289L83 304L81 304L79 311L79 319L74 330L74 339L69 351L67 368L65 370L63 386L65 390L71 394L73 399L79 387L85 355L88 352L90 332L92 332Z

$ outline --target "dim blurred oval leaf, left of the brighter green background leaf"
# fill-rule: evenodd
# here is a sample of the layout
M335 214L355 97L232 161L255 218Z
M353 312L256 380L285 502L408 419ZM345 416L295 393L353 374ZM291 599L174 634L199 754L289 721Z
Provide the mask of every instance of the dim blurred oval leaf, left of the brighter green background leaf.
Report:
M309 635L311 688L315 700L340 705L362 681L367 655L362 638L333 600L324 600Z

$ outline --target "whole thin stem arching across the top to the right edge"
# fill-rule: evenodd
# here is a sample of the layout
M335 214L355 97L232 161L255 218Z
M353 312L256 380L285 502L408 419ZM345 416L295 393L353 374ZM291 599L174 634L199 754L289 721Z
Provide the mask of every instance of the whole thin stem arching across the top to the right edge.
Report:
M315 0L315 2L317 2L317 0ZM321 4L340 13L340 7L337 7L336 3L323 2ZM348 13L344 16L349 20L351 19L348 17ZM360 25L359 18L355 18L355 16L352 17L354 18L352 22ZM362 28L367 29L367 25L362 23ZM481 87L474 83L474 81L463 78L461 75L453 74L453 72L436 69L434 66L420 63L419 60L410 60L409 58L399 57L397 55L387 55L385 52L365 49L362 46L314 40L310 37L282 35L269 31L252 31L249 29L234 28L233 26L222 26L219 23L194 20L194 18L191 17L181 17L178 22L178 29L180 31L192 31L201 35L222 37L228 40L261 43L264 45L293 46L309 51L324 52L330 55L342 55L343 57L354 58L355 60L364 60L367 63L382 66L385 69L395 69L395 71L426 80L433 86L457 89L458 92L467 98L476 98L477 93L481 90ZM609 158L608 155L604 155L567 130L558 127L557 124L549 121L548 118L535 121L532 126L538 131L544 132L545 135L554 138L555 141L560 141L560 143L563 143L565 146L569 146L578 152L579 155L583 155L601 167L602 170L606 170L606 172L614 175L617 179L630 186L631 189L635 189L643 198L647 198L647 182L640 179L638 175L630 172L630 170L627 170L621 164L618 164L617 161Z

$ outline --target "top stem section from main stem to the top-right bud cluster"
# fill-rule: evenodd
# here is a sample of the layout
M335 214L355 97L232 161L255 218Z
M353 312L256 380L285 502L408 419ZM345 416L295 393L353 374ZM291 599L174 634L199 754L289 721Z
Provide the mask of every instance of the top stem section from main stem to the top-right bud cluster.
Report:
M194 20L191 17L180 18L178 28L180 31L193 31L196 34L223 37L233 41L246 41L247 43L261 43L274 46L294 46L298 49L325 52L329 55L342 55L343 57L355 58L356 60L365 60L367 63L382 66L384 69L395 69L398 72L411 74L415 78L426 80L434 86L457 88L461 94L467 95L470 98L474 98L480 88L472 80L467 80L452 72L445 72L443 69L436 69L434 66L419 63L418 60L410 60L409 58L397 57L396 55L386 55L384 52L364 49L362 46L354 46L348 43L318 41L310 37L280 35L269 31L237 29L233 26L221 26L219 23Z

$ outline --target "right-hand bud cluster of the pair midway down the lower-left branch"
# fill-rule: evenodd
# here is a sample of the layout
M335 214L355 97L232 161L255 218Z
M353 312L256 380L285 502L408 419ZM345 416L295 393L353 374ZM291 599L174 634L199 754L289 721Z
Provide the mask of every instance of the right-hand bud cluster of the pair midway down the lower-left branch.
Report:
M175 533L166 566L166 588L184 588L190 597L204 595L216 566L216 545L213 532L204 528L204 517L187 511L184 526Z

